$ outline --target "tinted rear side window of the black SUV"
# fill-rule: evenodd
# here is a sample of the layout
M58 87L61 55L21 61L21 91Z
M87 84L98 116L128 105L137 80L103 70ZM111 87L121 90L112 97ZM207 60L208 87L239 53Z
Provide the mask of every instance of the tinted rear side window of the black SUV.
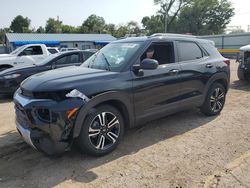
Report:
M178 42L179 61L196 60L203 57L199 46L194 42Z

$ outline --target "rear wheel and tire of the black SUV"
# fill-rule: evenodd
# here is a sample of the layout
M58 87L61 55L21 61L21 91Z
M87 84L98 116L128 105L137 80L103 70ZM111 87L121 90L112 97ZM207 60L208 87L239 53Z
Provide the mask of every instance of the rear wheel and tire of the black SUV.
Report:
M218 115L224 107L226 89L220 83L214 83L208 90L201 112L207 116Z

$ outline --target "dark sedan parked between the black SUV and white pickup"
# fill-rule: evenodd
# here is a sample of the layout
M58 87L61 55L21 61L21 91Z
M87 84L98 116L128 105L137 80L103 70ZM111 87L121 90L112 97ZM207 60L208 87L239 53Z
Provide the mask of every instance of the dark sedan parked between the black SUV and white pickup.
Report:
M79 66L87 60L93 52L68 51L50 55L42 62L32 65L17 66L0 72L0 94L13 94L20 83L27 77L47 70Z

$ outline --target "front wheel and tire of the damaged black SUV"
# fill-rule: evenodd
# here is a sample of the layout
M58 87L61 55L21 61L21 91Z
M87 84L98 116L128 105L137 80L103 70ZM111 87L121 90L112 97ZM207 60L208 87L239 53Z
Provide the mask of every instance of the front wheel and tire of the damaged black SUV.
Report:
M77 140L80 149L93 156L112 152L124 134L124 121L119 110L102 105L85 119Z

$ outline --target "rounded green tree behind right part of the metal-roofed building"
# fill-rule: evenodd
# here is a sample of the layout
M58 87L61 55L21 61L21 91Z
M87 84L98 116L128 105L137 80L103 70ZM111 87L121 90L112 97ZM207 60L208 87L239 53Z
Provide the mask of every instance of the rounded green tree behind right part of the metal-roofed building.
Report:
M103 33L105 31L105 20L95 14L90 15L82 24L83 33Z

